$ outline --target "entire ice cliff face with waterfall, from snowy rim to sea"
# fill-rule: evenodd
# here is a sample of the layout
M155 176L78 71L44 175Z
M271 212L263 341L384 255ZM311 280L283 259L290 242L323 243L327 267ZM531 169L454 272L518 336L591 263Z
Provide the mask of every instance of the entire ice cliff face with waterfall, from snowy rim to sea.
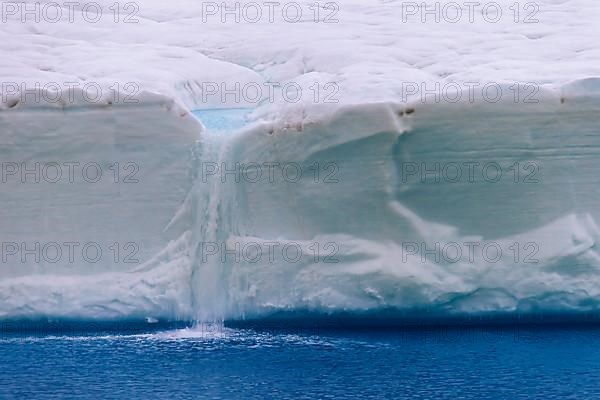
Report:
M145 93L4 110L1 319L597 323L596 86L294 123Z

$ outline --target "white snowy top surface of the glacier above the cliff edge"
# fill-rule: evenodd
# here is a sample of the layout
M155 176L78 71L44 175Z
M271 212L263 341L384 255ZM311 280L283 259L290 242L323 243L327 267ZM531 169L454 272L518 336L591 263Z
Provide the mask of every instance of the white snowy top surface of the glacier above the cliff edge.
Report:
M470 82L556 89L600 76L593 0L42 1L13 3L2 18L5 85L97 83L159 92L192 109L261 105L262 116L403 101L436 82L442 90ZM236 83L249 92L227 95ZM303 88L299 101L278 95L286 84ZM252 104L257 86L262 101Z

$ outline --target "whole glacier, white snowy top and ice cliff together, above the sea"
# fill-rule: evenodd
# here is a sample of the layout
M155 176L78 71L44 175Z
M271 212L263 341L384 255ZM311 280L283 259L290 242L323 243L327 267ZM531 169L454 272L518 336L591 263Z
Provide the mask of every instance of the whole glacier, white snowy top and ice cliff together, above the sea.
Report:
M466 10L457 23L423 22L421 14L403 20L406 2L364 0L333 3L335 23L316 23L312 0L294 2L304 13L297 23L282 17L286 2L273 21L265 15L250 23L203 15L197 1L151 0L136 2L137 22L124 23L113 20L114 1L96 3L103 15L95 23L77 12L72 22L64 12L54 23L3 14L3 159L99 162L105 171L135 162L140 182L3 182L3 240L97 241L103 248L131 241L140 245L140 262L3 263L0 318L600 309L599 3L537 1L535 23L522 21L528 9L515 22L512 0L496 3L504 14L496 23L482 17L482 6L473 22ZM121 10L120 18L127 14ZM73 99L38 101L13 90L39 84L42 93L73 82L97 84L101 98L90 102L75 90ZM292 103L276 91L256 104L203 93L209 84L265 82L300 85L303 95ZM474 102L436 102L431 94L423 101L422 85L473 82L497 83L505 95L497 103L479 92ZM337 88L335 102L323 101L328 83ZM418 91L407 92L407 84ZM514 101L515 84L539 88L537 101ZM236 132L206 132L190 113L241 107L254 111ZM401 178L407 162L473 160L505 171L534 162L539 180ZM339 181L207 184L193 181L194 161L295 162L304 171L334 162ZM520 182L526 173L518 171ZM335 243L339 262L203 262L199 255L205 242L249 241L305 249ZM481 254L452 263L402 258L408 242L432 248L472 241L494 241L505 251L517 243L521 253L494 263ZM538 246L535 264L524 262L531 243Z

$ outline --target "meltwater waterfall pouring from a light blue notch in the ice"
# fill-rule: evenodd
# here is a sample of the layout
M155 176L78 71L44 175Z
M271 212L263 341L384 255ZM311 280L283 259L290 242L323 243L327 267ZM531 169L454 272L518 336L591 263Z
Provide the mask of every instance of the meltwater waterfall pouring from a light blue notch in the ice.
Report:
M196 111L207 131L195 154L196 179L191 196L195 204L192 256L192 308L199 323L222 324L227 313L227 275L236 254L228 254L227 241L237 234L234 225L235 184L239 167L228 144L243 125L248 110ZM234 250L235 251L235 250Z

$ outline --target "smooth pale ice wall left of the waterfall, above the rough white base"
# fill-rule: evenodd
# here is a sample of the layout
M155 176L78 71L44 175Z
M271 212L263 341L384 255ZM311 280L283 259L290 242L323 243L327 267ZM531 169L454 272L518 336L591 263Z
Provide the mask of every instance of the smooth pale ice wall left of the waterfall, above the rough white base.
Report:
M102 257L11 257L2 264L2 279L72 274L75 266L82 274L127 270L180 234L164 228L191 187L190 149L202 124L156 93L142 92L129 104L90 104L81 91L73 94L64 107L27 96L0 111L2 237L28 248L91 243ZM132 264L124 263L123 250L135 253Z

